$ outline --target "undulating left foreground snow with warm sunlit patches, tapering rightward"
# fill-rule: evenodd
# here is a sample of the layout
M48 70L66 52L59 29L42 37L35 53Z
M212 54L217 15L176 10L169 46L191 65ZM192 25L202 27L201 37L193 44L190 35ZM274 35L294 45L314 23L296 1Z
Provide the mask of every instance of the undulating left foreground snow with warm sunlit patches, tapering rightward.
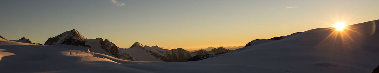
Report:
M88 53L88 49L88 47L64 44L25 45L21 44L21 42L2 41L0 42L0 73L193 73L249 71L244 70L246 68L258 69L251 72L283 73L282 70L266 69L254 65L127 61L99 53L95 53L95 56L92 56ZM216 69L228 71L217 71Z

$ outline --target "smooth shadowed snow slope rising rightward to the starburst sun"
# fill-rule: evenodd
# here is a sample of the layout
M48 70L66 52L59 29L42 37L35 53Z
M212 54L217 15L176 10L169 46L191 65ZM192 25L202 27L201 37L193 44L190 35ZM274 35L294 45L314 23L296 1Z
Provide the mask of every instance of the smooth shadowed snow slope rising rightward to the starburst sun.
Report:
M341 32L313 29L199 62L249 64L293 73L370 73L379 65L378 22L346 26Z

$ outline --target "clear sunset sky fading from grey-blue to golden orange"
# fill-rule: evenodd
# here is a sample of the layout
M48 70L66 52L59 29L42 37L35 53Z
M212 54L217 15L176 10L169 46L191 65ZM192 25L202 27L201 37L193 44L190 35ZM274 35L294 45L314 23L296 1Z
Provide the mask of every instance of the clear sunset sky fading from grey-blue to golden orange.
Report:
M0 0L0 35L45 43L75 29L128 48L242 46L379 19L379 0Z

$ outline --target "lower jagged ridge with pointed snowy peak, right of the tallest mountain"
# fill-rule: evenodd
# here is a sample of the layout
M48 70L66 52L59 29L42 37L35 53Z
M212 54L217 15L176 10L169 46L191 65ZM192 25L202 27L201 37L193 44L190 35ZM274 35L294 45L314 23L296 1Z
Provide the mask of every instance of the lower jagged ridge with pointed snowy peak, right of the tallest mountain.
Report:
M163 49L158 46L149 47L135 42L130 48L122 49L124 52L129 53L136 61L164 61L164 62L183 62L196 55L204 54L217 54L219 52L226 52L225 48L213 48L212 51L199 50L190 52L183 48L177 49Z

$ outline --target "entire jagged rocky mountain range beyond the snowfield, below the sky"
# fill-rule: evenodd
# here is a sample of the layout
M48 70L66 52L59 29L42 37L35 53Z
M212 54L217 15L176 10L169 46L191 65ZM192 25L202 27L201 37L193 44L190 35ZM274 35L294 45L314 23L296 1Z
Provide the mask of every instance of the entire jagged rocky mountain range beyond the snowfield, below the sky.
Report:
M64 42L70 41L70 42ZM217 54L221 52L229 52L225 48L212 48L211 51L186 51L182 48L167 50L158 46L149 47L135 42L129 48L120 48L108 39L96 38L87 39L77 30L66 31L58 36L49 38L44 45L58 45L62 43L83 42L83 46L91 47L94 53L106 54L119 59L129 61L165 61L165 62L182 62L187 61L190 57L204 54Z

